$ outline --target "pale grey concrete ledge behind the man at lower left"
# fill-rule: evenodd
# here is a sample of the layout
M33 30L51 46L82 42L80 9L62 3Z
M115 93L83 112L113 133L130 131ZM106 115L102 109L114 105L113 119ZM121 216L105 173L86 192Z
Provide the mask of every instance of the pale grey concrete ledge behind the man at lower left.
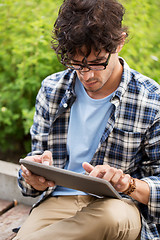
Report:
M0 199L14 200L18 203L32 205L36 198L24 197L17 184L17 176L20 165L0 161Z

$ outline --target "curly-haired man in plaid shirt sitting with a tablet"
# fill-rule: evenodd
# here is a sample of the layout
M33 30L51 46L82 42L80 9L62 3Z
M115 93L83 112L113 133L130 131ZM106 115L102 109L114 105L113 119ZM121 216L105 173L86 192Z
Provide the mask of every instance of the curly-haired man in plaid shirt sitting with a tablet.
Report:
M41 195L15 239L160 239L160 87L118 57L127 30L116 0L66 0L52 46L67 70L42 82L29 161L109 181L123 200L55 186L21 166Z

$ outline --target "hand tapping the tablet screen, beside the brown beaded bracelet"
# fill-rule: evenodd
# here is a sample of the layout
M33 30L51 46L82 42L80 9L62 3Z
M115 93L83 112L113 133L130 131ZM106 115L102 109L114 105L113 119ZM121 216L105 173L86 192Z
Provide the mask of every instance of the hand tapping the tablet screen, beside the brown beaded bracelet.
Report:
M109 165L97 165L93 167L87 162L84 162L82 166L90 176L107 180L118 192L124 192L129 187L131 176L124 174L121 169L110 167Z

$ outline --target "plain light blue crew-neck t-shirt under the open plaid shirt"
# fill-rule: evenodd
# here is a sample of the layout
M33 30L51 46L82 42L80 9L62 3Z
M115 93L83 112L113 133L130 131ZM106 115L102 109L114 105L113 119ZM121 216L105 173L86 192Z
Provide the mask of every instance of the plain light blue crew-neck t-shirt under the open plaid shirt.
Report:
M67 138L69 161L65 169L84 174L82 163L90 162L96 152L112 111L113 105L110 100L113 93L103 99L93 99L89 97L78 78L75 93L77 98L71 107ZM53 195L85 195L85 193L57 186Z

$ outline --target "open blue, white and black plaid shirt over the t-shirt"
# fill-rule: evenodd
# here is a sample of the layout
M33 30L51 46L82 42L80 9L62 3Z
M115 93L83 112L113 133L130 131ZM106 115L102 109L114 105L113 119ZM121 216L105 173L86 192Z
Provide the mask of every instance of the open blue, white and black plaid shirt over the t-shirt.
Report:
M111 103L113 111L106 125L92 165L109 164L150 187L148 206L138 203L142 217L141 240L160 239L160 86L132 70L123 59L123 75ZM32 155L50 150L54 166L67 161L67 131L70 108L76 99L75 71L66 70L47 77L36 99L31 127ZM54 188L38 192L28 185L21 171L19 186L25 196L44 199Z

